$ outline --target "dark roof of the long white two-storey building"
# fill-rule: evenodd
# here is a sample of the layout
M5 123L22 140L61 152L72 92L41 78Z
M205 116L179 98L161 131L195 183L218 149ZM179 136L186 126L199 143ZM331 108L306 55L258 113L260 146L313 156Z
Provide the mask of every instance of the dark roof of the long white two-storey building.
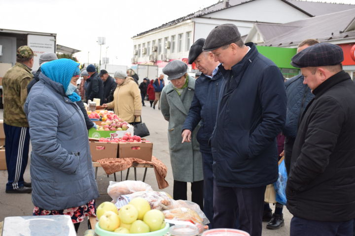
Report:
M254 0L229 0L228 2L228 6L227 7L234 7L234 6L238 6L241 4L245 4L248 3L250 1L254 1ZM355 5L352 4L339 4L339 3L326 3L326 2L311 2L311 1L302 1L302 0L282 0L285 3L289 4L290 6L298 9L299 11L309 15L309 16L317 16L317 15L323 15L323 14L328 14L328 13L332 13L332 12L337 12L337 11L342 11L342 10L346 10L346 9L350 9L350 8L355 8ZM213 12L217 12L220 10L223 10L226 7L226 1L225 0L218 0L217 3L205 7L199 11L193 12L191 14L188 14L186 16L180 17L178 19L175 19L173 21L167 22L161 26L158 26L156 28L153 29L149 29L147 31L138 33L137 35L133 36L132 38L144 35L146 33L149 33L151 31L157 30L157 29L163 29L175 24L178 24L180 22L186 21L186 20L190 20L196 17L201 17ZM243 20L243 19L241 19Z

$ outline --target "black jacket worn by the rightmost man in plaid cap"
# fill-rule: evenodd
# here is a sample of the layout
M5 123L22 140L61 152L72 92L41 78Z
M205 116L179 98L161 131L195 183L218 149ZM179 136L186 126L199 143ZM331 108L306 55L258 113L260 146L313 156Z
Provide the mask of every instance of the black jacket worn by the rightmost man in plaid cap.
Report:
M313 93L293 146L287 208L308 220L351 220L355 218L355 84L341 71Z

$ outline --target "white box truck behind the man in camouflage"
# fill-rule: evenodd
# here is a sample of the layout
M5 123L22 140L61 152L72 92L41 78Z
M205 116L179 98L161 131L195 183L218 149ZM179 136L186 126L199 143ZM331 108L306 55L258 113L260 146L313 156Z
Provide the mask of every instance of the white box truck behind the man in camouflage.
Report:
M56 52L56 33L32 32L13 29L0 29L0 94L2 98L2 77L16 63L16 49L28 45L37 54L32 68L39 67L39 56L45 52ZM2 99L0 99L2 108Z

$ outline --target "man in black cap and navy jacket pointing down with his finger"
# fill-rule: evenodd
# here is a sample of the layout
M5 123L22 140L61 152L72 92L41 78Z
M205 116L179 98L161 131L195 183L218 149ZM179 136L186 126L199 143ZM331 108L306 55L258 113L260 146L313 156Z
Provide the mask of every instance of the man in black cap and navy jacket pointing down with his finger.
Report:
M223 76L218 70L219 62L214 61L213 54L202 51L204 44L204 38L198 39L192 44L189 52L188 63L195 62L202 74L196 80L195 95L182 126L182 142L191 141L192 131L202 121L203 125L197 133L197 141L200 143L204 170L204 212L211 222L209 228L213 229L213 157L208 141L217 116L218 95Z

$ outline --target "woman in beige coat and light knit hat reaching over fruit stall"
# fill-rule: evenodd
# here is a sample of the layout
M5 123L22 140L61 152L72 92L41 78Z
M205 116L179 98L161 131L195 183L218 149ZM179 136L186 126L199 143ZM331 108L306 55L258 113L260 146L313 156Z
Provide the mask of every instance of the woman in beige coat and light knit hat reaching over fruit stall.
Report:
M138 85L125 71L118 70L113 77L117 83L113 101L103 106L107 109L113 108L114 113L128 123L133 123L135 118L136 122L141 122L142 98Z

